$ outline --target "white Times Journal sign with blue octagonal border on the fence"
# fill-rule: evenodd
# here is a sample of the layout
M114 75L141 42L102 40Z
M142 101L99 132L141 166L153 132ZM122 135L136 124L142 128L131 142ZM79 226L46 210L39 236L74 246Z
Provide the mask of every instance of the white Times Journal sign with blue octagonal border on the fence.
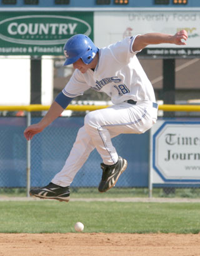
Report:
M200 122L161 121L153 127L153 183L200 183Z

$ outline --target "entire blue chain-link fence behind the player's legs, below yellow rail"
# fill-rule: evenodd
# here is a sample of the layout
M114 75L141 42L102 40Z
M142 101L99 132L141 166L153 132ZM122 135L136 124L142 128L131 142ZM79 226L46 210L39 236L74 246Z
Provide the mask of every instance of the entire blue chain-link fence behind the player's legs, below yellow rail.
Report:
M37 123L41 117L32 117ZM60 117L31 141L31 187L41 187L63 167L84 117ZM0 117L0 187L26 187L26 117ZM113 139L119 155L128 159L126 174L116 187L148 187L148 133L120 135ZM140 145L141 150L136 150ZM94 150L74 178L71 187L98 187L101 157Z

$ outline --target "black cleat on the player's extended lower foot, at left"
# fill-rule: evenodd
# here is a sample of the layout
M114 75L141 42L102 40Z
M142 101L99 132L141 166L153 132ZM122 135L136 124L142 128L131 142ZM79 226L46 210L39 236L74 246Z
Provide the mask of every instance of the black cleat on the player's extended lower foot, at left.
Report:
M43 188L32 189L29 194L41 199L55 199L64 202L68 202L70 198L69 186L61 187L54 183L49 183L49 185Z

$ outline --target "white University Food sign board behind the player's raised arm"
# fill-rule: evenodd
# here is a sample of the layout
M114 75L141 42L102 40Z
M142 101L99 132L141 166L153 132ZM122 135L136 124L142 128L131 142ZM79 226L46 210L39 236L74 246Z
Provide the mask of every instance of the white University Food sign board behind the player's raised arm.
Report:
M172 44L151 45L145 49L146 54L197 56L200 54L199 24L200 11L95 12L94 39L97 46L101 48L126 36L152 32L175 34L179 30L185 29L189 36L187 46ZM156 48L157 51L151 48ZM168 51L170 48L173 49ZM158 49L163 50L159 52Z

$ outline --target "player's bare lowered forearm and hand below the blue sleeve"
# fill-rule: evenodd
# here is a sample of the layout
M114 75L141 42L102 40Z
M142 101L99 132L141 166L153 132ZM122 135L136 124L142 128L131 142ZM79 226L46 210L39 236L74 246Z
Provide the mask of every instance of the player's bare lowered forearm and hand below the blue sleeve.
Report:
M64 108L62 108L56 101L54 101L49 108L49 111L47 111L44 118L42 118L39 123L36 123L35 125L30 125L24 130L24 137L26 140L31 140L34 135L37 133L41 133L41 131L44 130L50 123L52 123L58 116L61 115Z

